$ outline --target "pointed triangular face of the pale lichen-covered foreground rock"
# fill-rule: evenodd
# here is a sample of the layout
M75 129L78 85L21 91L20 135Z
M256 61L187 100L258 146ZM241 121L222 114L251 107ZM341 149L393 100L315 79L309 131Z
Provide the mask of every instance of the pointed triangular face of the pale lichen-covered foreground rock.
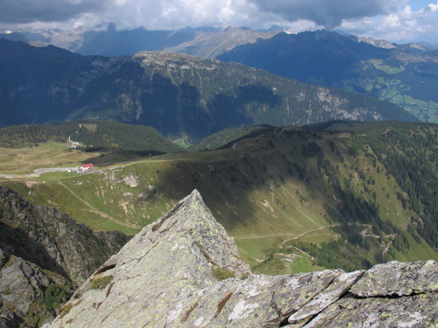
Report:
M213 267L236 277L250 273L233 239L194 191L105 262L52 327L67 321L75 323L69 327L182 327L198 292L218 283ZM109 286L92 289L94 281L110 275Z

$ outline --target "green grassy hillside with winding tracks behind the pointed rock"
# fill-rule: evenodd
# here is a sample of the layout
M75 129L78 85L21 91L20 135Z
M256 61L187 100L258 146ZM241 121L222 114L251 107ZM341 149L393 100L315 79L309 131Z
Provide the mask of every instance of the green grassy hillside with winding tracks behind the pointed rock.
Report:
M385 161L391 154L381 153L385 143L376 139L391 137L386 147L400 152L402 159L402 133L436 135L435 126L384 124L353 126L358 133L346 126L339 132L274 128L238 141L235 148L146 157L98 166L93 174L43 174L32 182L4 183L31 202L55 206L93 229L131 234L196 188L257 272L437 260L430 247L433 238L418 233L426 224L420 222L422 213L389 172ZM427 150L430 165L436 165L435 151Z

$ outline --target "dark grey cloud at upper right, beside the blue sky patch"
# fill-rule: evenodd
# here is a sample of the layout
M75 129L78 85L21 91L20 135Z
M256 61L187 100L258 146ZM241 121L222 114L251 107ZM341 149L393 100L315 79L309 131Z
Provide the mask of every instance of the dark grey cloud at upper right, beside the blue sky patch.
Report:
M278 14L294 22L311 20L327 29L341 25L343 19L372 17L394 12L405 0L248 0L260 10Z

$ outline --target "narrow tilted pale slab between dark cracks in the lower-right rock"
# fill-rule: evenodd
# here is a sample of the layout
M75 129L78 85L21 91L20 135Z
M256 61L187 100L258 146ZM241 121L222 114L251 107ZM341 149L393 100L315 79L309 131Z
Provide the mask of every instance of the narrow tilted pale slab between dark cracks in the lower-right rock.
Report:
M302 325L304 325L305 321L311 318L311 316L318 314L324 310L324 308L331 305L331 303L334 303L340 297L345 295L350 287L355 284L357 279L363 275L363 273L363 270L359 270L339 275L339 277L336 277L330 286L313 297L309 303L306 303L297 312L292 314L292 316L289 316L288 322L294 324L302 322Z

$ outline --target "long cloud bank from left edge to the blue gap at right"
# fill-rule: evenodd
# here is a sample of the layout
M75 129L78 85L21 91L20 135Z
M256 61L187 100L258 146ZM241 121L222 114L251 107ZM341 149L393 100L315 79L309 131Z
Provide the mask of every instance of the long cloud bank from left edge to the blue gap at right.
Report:
M153 29L266 25L307 20L326 28L343 19L394 12L407 0L1 0L0 22L114 21ZM134 26L136 25L136 26Z

